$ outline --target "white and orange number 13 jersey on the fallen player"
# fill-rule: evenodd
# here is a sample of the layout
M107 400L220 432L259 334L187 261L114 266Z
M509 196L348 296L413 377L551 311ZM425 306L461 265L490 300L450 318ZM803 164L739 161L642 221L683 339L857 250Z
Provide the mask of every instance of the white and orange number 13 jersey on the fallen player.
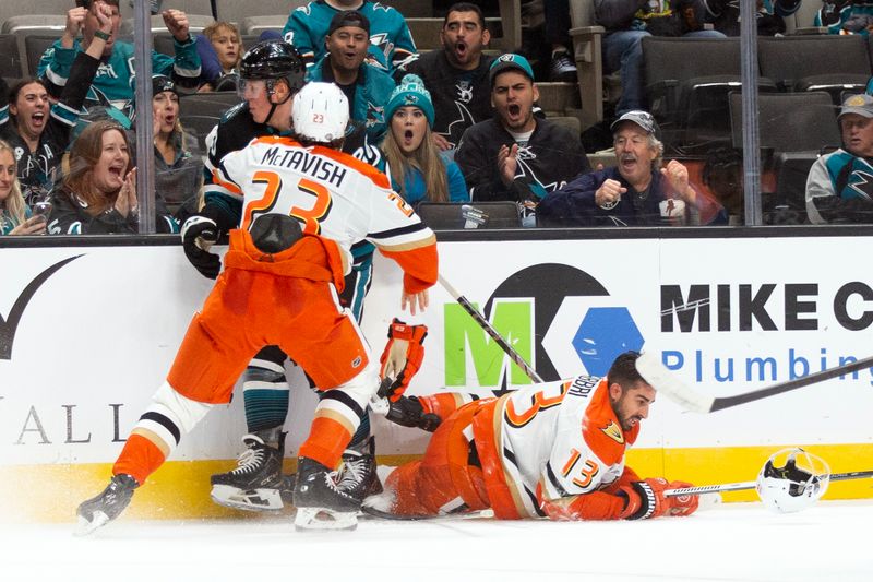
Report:
M535 518L545 515L538 485L546 498L559 499L617 482L639 425L622 430L606 378L578 376L504 394L495 403L491 429L489 435L476 430L477 449L485 449L483 439L493 439L518 516Z

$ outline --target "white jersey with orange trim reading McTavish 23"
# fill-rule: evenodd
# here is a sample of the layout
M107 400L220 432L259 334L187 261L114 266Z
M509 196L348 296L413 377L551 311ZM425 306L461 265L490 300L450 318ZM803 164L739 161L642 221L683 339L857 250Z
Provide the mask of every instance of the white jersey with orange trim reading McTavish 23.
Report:
M303 231L350 249L367 239L405 272L404 289L436 282L436 237L391 189L387 177L355 157L289 138L262 136L227 154L213 179L242 200L241 228L261 214L294 216Z

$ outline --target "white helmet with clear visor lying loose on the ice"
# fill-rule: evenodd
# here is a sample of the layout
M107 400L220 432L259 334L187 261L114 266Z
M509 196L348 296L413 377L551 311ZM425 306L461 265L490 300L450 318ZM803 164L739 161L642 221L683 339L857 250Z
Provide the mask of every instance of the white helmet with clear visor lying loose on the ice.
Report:
M824 460L803 449L782 449L764 464L755 489L767 509L792 513L815 504L829 482Z

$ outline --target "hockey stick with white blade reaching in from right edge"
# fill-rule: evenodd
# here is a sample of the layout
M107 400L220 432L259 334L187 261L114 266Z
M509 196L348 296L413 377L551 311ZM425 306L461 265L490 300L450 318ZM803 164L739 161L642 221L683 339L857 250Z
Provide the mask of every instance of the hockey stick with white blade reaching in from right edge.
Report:
M796 378L794 380L778 382L767 388L745 392L744 394L714 397L701 394L685 384L674 372L668 370L667 367L660 363L654 351L643 352L636 360L637 371L653 388L655 388L655 390L663 392L680 406L697 413L714 413L756 400L767 399L810 384L824 382L832 378L863 370L871 366L873 366L873 356L850 364L844 364L835 368L828 368L820 372L813 372L802 378Z

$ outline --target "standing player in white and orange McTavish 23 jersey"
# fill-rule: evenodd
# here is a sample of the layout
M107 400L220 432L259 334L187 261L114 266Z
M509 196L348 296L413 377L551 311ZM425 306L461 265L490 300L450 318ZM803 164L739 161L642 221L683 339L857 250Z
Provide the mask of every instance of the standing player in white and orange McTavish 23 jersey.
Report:
M237 378L265 345L278 345L326 392L299 451L295 523L356 523L360 500L336 487L333 471L376 393L379 367L337 297L349 249L367 239L397 261L402 308L415 313L436 282L436 240L384 174L338 151L348 104L336 85L310 83L294 99L295 139L258 138L216 170L242 197L241 228L230 231L225 271L133 428L109 486L79 507L84 533L118 516L181 436L229 402ZM320 236L327 222L337 233L332 238Z

